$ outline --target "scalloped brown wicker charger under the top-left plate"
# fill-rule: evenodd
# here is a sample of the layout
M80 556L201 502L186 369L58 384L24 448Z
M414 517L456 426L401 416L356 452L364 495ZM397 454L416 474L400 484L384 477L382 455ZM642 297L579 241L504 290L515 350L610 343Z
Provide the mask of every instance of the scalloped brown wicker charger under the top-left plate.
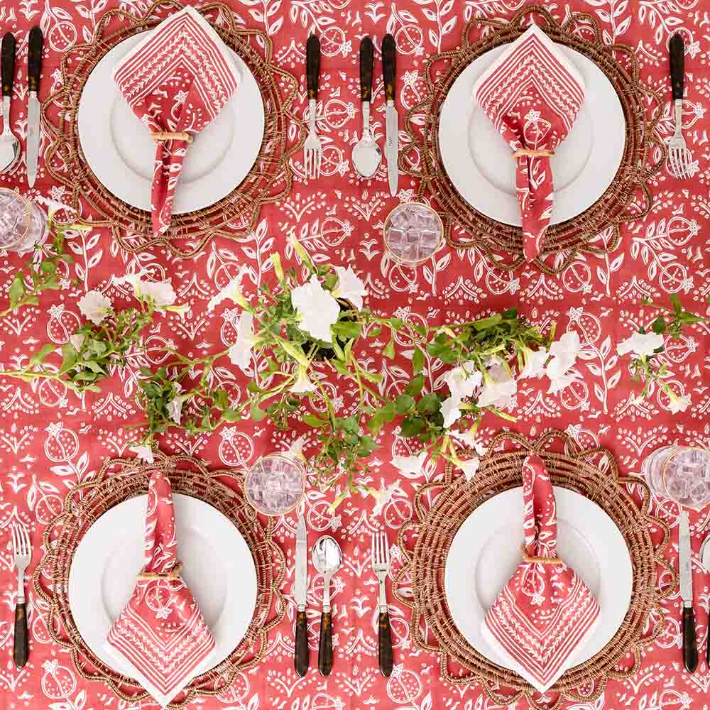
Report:
M261 30L239 26L229 6L214 2L197 10L244 60L263 97L264 135L253 168L241 185L222 200L195 212L174 214L170 229L160 236L153 234L150 212L119 200L97 180L79 142L79 102L84 84L111 48L154 27L182 7L178 0L158 0L140 17L121 9L104 13L92 41L72 45L62 55L59 89L42 104L45 129L51 138L45 152L50 174L67 187L72 207L82 222L109 227L121 247L131 253L162 246L176 256L193 256L215 236L238 239L252 231L263 204L277 202L290 193L290 157L305 140L305 126L293 113L298 80L275 65L271 38ZM297 130L289 130L293 128Z

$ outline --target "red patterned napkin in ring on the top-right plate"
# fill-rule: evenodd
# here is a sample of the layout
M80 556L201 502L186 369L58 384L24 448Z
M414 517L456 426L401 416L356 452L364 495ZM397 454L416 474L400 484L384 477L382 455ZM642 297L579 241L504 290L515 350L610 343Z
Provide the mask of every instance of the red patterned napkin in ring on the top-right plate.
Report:
M536 25L513 42L474 84L474 98L518 160L515 189L523 252L542 248L554 200L550 155L584 102L584 80Z

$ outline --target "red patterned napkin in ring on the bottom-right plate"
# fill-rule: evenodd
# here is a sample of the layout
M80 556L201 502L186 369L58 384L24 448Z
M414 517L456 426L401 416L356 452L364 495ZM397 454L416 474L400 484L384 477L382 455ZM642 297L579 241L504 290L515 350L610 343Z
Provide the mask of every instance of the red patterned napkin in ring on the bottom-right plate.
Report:
M544 692L594 633L599 603L557 557L555 492L538 456L523 463L523 501L523 562L488 609L482 632L513 670Z

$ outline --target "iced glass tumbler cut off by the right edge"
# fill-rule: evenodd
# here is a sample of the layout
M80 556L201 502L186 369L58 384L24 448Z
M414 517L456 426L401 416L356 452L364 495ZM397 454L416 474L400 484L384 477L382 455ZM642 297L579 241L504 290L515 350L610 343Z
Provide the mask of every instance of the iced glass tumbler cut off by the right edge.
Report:
M659 496L688 508L710 503L710 452L705 449L661 447L646 457L641 472Z

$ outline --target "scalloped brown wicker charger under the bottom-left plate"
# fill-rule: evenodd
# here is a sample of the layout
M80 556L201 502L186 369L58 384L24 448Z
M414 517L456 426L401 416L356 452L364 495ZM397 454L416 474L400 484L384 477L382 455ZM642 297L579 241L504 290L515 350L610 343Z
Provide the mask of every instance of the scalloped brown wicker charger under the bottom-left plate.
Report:
M168 476L174 493L200 498L226 515L244 536L256 566L256 610L246 635L224 661L193 679L180 699L168 705L171 710L179 710L197 696L226 692L239 672L261 660L269 631L278 626L285 614L279 591L285 559L272 537L274 523L269 520L262 525L258 520L241 491L241 476L232 471L207 471L200 461L185 456L155 454L155 464L150 466L136 459L109 459L95 479L67 493L62 512L50 520L42 540L46 553L35 569L33 583L49 607L46 626L50 637L70 651L82 677L105 682L121 700L131 704L150 699L135 680L105 665L84 643L69 605L69 570L92 523L109 508L147 493L150 472L155 469ZM234 479L235 488L220 479Z

